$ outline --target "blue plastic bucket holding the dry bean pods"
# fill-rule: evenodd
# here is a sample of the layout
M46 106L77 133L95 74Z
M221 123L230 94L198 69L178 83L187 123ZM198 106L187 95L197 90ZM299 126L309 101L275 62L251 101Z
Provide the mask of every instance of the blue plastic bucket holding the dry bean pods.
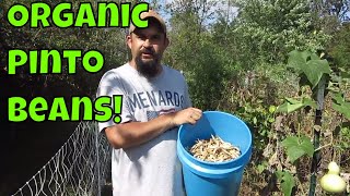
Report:
M197 139L209 139L211 135L241 149L237 159L224 162L208 162L196 159L187 149ZM187 196L237 195L243 171L252 156L252 134L238 118L220 111L206 111L195 124L184 124L178 130L177 156L183 164Z

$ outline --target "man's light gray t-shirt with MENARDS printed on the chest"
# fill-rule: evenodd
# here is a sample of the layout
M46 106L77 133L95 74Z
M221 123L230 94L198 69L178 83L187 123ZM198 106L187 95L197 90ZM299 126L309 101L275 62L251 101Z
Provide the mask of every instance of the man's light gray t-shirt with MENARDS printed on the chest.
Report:
M104 74L97 97L122 95L121 123L147 122L162 113L191 106L184 76L166 65L152 79L124 64ZM114 125L98 123L100 131ZM176 155L177 127L154 139L128 149L113 149L114 196L182 196L182 166Z

